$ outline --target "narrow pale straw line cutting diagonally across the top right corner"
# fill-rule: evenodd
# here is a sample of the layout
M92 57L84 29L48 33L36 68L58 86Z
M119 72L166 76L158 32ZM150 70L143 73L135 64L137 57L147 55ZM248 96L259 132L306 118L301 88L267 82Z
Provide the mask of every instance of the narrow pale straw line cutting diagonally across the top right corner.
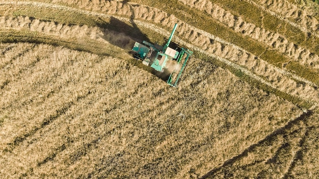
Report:
M256 6L257 8L261 9L262 11L267 12L267 13L271 14L272 16L277 17L281 21L284 21L286 23L289 23L290 25L293 25L294 27L300 29L304 33L311 33L312 35L314 35L316 37L319 37L319 35L316 32L309 32L308 29L306 29L305 27L302 27L300 24L295 23L295 22L287 19L286 17L283 17L283 16L275 13L274 11L271 11L271 10L267 9L266 7L254 2L252 0L245 0L245 1L248 2L249 4L252 4L252 5Z

